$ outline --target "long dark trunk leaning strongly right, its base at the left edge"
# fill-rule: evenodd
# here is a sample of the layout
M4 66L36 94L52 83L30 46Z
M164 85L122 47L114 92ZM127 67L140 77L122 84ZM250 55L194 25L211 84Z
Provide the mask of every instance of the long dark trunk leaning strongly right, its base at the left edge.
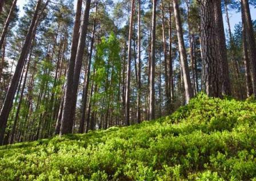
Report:
M21 72L23 68L23 64L25 62L26 56L28 54L30 45L31 45L31 40L33 36L33 28L36 29L35 25L37 24L37 19L38 19L38 11L40 9L42 0L37 1L37 6L35 7L33 19L31 20L29 31L27 32L26 40L23 44L21 55L19 56L18 63L13 75L13 79L11 80L11 84L9 89L7 90L7 94L5 97L5 101L3 102L2 110L0 113L0 145L3 142L3 135L5 134L5 129L7 125L7 120L9 117L9 113L11 110L11 106L13 104L13 98L15 95L15 92L17 90L18 86L18 81L19 77L21 77Z

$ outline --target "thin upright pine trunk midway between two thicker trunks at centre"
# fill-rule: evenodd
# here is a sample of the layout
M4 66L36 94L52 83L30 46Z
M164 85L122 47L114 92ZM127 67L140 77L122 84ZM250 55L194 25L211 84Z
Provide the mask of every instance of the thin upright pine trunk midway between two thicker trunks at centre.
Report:
M138 93L137 93L137 122L141 122L141 0L138 0Z

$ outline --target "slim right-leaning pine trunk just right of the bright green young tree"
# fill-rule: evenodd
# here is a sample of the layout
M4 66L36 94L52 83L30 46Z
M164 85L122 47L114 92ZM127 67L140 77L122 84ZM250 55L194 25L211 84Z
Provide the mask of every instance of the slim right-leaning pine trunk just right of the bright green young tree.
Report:
M127 74L126 74L126 93L125 93L125 125L130 125L130 81L131 81L131 39L133 36L133 16L134 16L135 1L131 0L131 14L130 14L130 27L128 39L128 60L127 60Z

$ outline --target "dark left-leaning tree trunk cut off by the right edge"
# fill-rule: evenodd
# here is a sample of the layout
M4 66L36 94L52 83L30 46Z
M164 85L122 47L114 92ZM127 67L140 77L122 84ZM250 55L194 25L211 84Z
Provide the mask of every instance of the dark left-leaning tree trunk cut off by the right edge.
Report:
M251 14L248 0L241 0L242 14L245 19L245 27L247 34L247 46L251 65L251 74L253 80L253 93L256 97L256 44L253 31L253 23L251 22Z

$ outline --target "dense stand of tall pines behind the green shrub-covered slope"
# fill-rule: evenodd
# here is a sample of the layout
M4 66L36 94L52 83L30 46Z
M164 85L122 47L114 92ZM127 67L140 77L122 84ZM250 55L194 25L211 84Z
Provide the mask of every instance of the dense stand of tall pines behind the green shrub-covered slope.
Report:
M0 1L0 143L139 124L201 91L256 94L256 1L33 0L22 15L19 1Z

